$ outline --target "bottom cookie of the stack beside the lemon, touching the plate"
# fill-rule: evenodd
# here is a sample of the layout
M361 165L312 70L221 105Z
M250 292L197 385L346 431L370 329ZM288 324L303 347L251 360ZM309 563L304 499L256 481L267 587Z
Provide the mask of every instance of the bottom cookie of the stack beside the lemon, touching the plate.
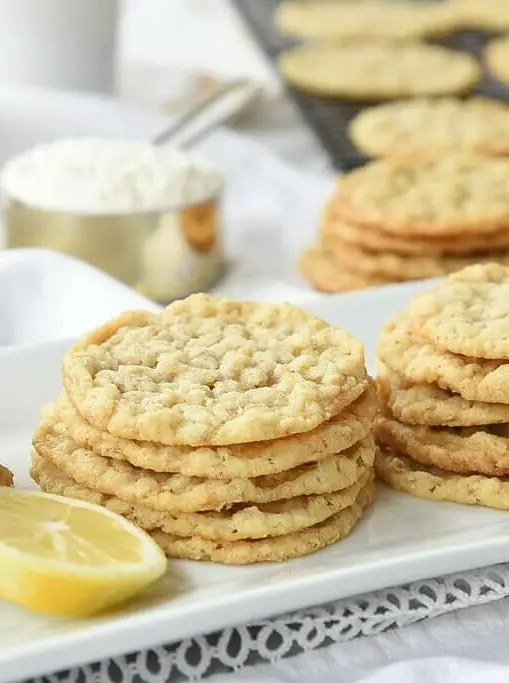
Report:
M347 536L371 505L373 497L374 485L370 483L359 493L353 505L321 524L276 538L217 542L199 537L179 538L161 531L154 531L152 538L170 557L211 560L223 564L283 562L316 552Z

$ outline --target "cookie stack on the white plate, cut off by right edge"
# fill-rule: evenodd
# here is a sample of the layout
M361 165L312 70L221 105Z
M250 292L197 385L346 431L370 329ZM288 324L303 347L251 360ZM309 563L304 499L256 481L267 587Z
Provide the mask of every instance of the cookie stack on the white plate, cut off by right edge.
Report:
M509 268L417 296L378 344L377 472L421 498L509 509Z

